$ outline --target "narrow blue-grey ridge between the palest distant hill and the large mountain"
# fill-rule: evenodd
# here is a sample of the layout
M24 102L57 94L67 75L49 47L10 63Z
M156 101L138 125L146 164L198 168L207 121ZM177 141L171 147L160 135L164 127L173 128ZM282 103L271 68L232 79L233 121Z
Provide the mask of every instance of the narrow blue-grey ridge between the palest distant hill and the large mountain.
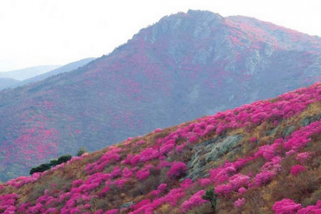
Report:
M77 68L79 68L81 66L86 65L87 63L93 61L94 59L95 58L83 58L83 59L81 59L79 61L68 63L65 66L61 66L59 68L54 69L53 71L42 73L42 74L40 74L38 76L27 78L24 81L20 81L18 83L14 83L11 86L11 88L15 88L15 87L18 87L18 86L24 86L26 84L34 83L34 82L37 82L37 81L42 81L45 78L49 78L50 76L54 76L54 75L57 75L59 73L65 73L65 72L73 71L73 70L75 70L75 69L77 69Z

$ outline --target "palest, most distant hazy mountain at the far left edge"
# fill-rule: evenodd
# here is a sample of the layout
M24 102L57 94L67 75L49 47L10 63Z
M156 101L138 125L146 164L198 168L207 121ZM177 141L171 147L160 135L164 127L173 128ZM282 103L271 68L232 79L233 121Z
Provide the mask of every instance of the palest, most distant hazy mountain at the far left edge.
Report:
M0 78L14 78L19 81L23 81L27 78L41 75L48 71L52 71L60 66L36 66L31 68L24 68L16 71L0 72Z

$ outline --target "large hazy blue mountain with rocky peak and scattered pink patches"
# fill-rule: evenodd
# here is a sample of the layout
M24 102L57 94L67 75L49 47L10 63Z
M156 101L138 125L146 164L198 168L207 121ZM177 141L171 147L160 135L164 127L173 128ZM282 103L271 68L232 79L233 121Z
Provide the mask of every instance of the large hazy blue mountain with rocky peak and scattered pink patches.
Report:
M0 179L308 86L320 53L319 37L257 19L166 16L108 56L0 92Z

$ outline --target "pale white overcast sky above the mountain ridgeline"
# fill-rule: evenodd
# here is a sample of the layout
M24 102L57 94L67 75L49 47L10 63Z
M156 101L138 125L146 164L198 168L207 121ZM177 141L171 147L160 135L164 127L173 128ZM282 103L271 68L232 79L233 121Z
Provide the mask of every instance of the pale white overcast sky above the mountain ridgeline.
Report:
M0 0L0 71L100 57L163 16L188 9L321 36L318 0Z

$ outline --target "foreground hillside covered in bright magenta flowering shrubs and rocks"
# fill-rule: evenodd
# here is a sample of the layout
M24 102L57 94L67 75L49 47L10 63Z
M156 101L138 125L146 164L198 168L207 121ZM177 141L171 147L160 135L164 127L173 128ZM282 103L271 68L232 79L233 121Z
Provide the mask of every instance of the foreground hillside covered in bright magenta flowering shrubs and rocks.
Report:
M0 185L0 212L320 213L320 112L316 83L158 128Z

